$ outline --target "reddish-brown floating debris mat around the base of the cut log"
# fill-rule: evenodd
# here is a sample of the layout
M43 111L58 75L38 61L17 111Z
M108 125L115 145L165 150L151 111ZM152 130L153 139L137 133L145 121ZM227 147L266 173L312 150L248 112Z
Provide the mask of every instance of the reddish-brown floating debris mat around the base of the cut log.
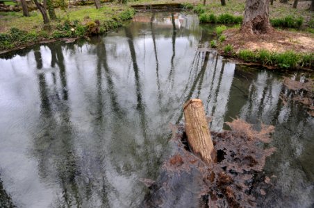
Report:
M261 147L261 142L270 142L274 127L261 125L256 131L240 119L227 124L233 130L212 132L217 163L210 166L189 151L183 125L178 126L172 139L176 151L141 207L255 207L254 194L264 196L262 184L270 184L270 177L257 175L274 152Z

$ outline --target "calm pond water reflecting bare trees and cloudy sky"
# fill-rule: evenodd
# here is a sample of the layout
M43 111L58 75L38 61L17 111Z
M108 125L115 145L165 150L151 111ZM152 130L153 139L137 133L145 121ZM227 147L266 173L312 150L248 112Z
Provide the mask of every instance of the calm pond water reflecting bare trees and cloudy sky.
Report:
M170 123L201 98L210 129L236 116L274 125L265 207L314 205L314 119L282 96L283 72L208 50L195 15L140 13L89 41L0 59L0 207L138 207L171 152ZM289 75L306 80L311 73Z

